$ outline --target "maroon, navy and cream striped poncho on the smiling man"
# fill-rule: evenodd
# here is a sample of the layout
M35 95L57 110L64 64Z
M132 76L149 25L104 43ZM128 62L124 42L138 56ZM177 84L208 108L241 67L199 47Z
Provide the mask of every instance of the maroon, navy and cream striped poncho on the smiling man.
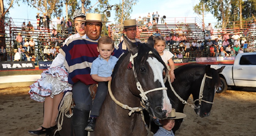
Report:
M68 70L68 83L74 84L78 81L86 85L95 82L91 78L91 64L98 57L98 41L76 38L68 40L59 51L65 57L64 65Z

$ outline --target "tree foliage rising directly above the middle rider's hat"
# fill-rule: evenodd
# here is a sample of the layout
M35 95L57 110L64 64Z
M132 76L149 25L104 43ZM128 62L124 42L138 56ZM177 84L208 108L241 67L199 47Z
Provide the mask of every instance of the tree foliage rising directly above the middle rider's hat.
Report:
M123 20L131 19L132 6L136 5L139 0L122 0L121 3L115 4L116 13L114 20L117 24L123 24Z

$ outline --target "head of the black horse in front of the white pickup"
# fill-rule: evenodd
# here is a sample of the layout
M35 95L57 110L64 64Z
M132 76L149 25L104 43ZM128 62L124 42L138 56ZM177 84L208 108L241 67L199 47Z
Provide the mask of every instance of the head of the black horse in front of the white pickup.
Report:
M215 70L210 67L211 65L206 65L205 76L203 77L200 93L193 94L196 109L195 112L200 117L207 117L210 115L212 103L214 100L214 95L216 89L220 86L219 73L222 72L225 66ZM201 83L201 82L200 82Z

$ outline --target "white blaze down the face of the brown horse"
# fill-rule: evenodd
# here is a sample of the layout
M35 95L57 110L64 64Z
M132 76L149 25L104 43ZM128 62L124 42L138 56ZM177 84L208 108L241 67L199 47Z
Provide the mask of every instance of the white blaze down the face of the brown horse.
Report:
M164 66L161 62L159 62L156 58L148 57L148 64L150 65L153 73L154 73L154 82L157 80L161 83L162 87L165 87L165 83L163 82L163 69ZM167 96L166 90L163 90L163 109L167 110L166 116L171 113L172 104Z

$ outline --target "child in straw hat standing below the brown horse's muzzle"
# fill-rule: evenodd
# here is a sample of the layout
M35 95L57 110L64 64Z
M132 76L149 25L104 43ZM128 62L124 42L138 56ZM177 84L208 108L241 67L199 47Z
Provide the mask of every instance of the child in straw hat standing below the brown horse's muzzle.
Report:
M155 133L154 136L174 136L172 129L175 125L175 120L184 117L187 117L187 115L184 113L176 112L175 109L172 109L172 112L165 120L159 120L159 123L162 125L159 127L157 133Z

